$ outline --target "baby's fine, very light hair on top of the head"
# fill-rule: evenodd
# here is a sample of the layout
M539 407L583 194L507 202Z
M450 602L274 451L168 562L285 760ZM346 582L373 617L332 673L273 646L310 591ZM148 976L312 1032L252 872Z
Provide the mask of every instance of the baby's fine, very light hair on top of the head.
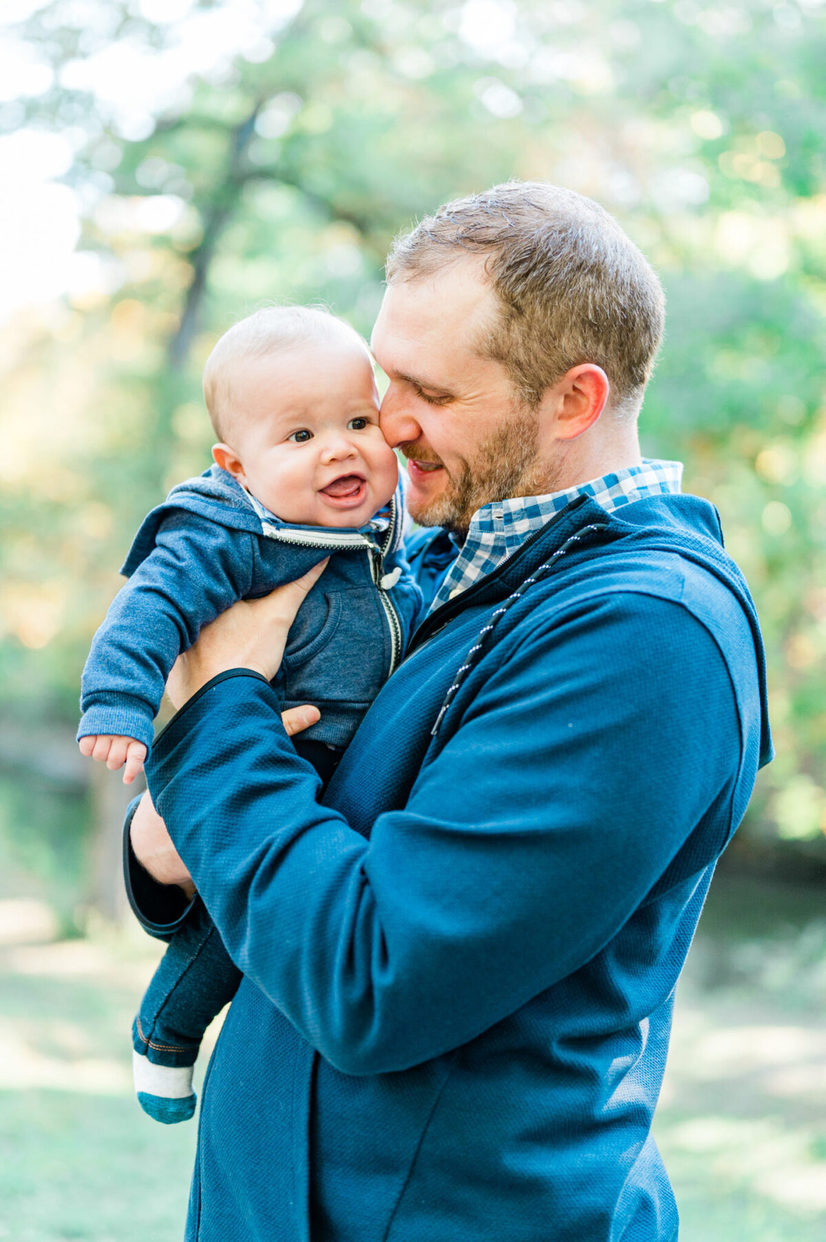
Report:
M260 307L218 338L203 366L203 400L218 440L232 435L239 411L233 406L232 379L238 363L280 353L308 340L349 337L370 356L367 343L345 319L326 307Z

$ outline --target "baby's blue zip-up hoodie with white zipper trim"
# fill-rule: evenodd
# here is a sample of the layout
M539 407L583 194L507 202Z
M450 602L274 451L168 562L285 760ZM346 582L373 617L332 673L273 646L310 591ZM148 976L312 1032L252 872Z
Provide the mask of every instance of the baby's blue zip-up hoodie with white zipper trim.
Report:
M330 555L290 628L278 691L315 703L304 737L346 746L401 658L420 594L402 550L402 497L360 529L290 525L218 466L179 483L144 519L122 569L129 581L92 642L78 740L122 734L146 746L181 651L241 599L268 595Z

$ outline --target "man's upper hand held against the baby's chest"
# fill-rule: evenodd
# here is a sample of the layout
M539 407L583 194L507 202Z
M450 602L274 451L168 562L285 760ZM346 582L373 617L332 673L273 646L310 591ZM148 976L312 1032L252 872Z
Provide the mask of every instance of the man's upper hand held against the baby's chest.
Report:
M260 600L239 600L201 630L175 662L166 683L172 707L181 708L208 681L229 668L251 668L272 681L278 672L295 614L324 573L327 559L303 578ZM298 708L296 710L301 710ZM285 724L286 728L286 724ZM299 729L306 728L301 724ZM293 729L298 733L299 729ZM290 729L286 728L290 733Z

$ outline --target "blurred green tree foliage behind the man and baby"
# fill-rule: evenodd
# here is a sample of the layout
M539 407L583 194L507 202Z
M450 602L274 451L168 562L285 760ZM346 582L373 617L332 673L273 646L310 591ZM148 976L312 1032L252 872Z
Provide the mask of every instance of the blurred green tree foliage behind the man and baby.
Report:
M138 0L26 7L17 30L56 77L25 116L0 108L0 128L71 133L81 248L105 279L15 328L0 509L6 700L71 718L131 532L170 483L208 463L200 369L227 323L262 299L322 299L367 334L398 229L497 180L547 178L615 211L662 274L668 334L644 445L685 460L687 489L719 507L769 645L779 758L749 830L820 840L820 11L308 0L285 21L259 0L246 55L184 75L135 119L83 84L83 65L145 45L174 76L164 57L187 22L222 5L196 0L162 22Z

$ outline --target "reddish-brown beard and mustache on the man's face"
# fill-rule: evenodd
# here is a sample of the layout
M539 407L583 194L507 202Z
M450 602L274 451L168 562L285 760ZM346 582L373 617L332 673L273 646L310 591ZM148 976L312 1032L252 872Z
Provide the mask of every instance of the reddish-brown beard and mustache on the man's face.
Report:
M413 461L442 465L435 453L415 443L399 448ZM408 501L411 517L420 527L468 530L474 513L484 504L547 491L543 486L547 467L544 471L540 467L538 417L533 410L516 415L479 445L473 460L459 457L459 462L453 473L444 467L446 486L439 496L418 505Z

